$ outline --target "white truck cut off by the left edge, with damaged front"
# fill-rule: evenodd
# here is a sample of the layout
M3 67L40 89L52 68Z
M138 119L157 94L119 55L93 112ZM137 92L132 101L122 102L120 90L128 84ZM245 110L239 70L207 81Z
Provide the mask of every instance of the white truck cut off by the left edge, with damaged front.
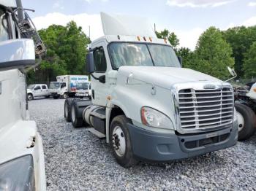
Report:
M44 51L21 1L0 0L0 190L46 190L42 139L26 101L26 71Z

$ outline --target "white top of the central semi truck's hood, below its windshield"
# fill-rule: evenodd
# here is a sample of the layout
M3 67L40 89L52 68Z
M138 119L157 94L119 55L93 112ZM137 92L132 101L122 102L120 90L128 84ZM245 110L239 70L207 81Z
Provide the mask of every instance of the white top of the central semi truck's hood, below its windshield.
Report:
M170 89L176 83L183 82L222 82L220 79L199 71L173 67L121 66L118 74L129 77L129 84L146 82Z

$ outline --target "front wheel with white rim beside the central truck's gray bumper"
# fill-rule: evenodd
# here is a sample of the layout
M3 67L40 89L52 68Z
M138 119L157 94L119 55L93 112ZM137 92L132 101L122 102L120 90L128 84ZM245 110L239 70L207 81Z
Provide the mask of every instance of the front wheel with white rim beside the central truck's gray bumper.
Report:
M127 128L128 122L130 120L127 117L118 115L113 118L110 125L111 149L117 163L123 167L130 167L137 163L132 152L132 143Z

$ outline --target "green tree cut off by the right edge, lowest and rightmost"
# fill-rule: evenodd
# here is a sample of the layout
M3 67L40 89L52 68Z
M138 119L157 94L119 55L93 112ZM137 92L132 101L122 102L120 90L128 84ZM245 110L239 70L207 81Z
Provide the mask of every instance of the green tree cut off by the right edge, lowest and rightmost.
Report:
M244 77L246 77L247 79L256 77L256 41L244 54L243 71Z

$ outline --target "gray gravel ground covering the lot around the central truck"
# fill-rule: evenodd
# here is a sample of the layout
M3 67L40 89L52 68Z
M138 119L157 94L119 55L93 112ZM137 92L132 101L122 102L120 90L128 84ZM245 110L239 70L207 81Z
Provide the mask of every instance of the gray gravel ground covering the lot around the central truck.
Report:
M122 168L105 140L64 120L64 100L29 102L45 151L48 190L255 190L256 136L211 155Z

